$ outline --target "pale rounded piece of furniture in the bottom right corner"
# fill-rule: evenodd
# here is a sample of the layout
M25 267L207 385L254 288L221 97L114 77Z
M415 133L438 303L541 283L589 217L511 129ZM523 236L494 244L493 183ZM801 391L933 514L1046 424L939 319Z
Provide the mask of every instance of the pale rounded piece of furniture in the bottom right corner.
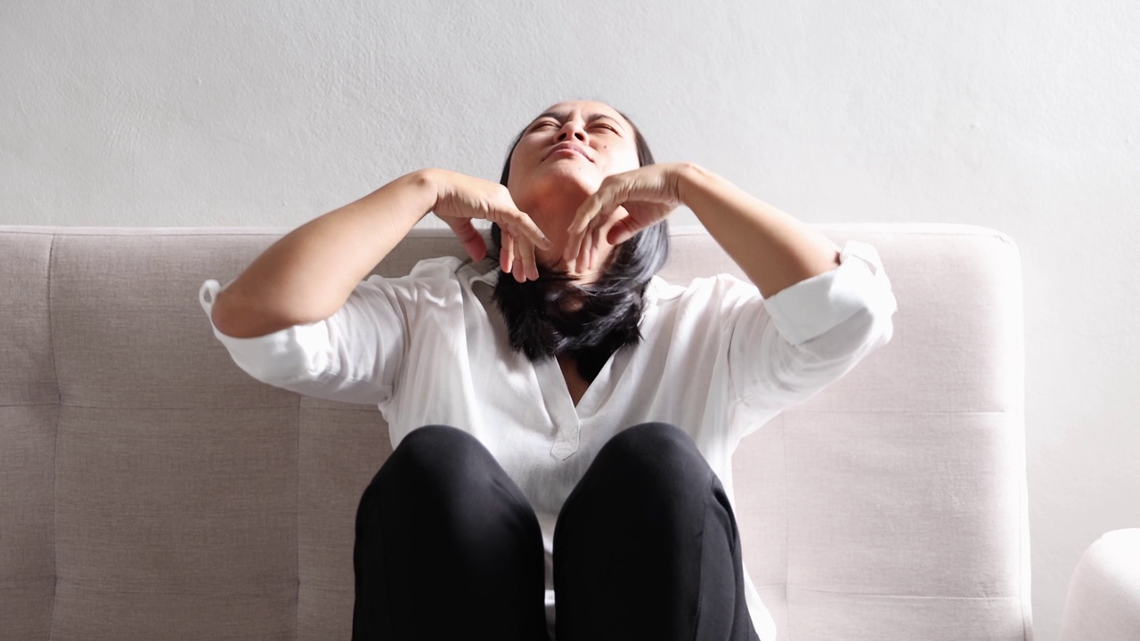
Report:
M1060 641L1140 639L1140 528L1094 541L1069 581Z

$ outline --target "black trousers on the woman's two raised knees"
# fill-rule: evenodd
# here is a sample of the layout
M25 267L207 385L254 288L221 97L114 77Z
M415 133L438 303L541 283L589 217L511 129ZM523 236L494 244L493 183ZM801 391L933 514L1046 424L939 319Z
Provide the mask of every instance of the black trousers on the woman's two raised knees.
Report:
M474 437L425 425L360 498L353 641L547 641L542 532ZM692 439L628 428L598 452L554 530L557 641L757 641L736 521Z

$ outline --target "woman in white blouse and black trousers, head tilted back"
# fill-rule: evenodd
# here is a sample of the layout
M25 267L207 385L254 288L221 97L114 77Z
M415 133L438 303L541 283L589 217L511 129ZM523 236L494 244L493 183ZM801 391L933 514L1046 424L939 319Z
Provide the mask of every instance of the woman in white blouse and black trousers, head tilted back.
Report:
M751 284L656 276L681 204ZM361 282L429 212L472 260ZM357 640L773 641L732 452L889 341L895 311L873 248L656 164L628 117L580 100L523 129L500 184L400 177L201 300L254 378L389 422L357 512Z

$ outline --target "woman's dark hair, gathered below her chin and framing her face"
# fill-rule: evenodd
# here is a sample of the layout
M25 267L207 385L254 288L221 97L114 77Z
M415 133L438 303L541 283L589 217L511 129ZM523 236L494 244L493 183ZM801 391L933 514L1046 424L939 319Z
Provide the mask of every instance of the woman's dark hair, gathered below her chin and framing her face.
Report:
M640 167L653 164L653 154L641 131L633 127ZM503 177L505 187L511 173L511 157L526 133L511 144ZM489 257L503 249L503 230L491 224ZM571 355L578 373L593 381L610 356L625 346L641 342L638 323L645 286L669 257L669 228L665 220L642 229L613 250L604 274L594 283L579 286L569 274L538 263L538 279L520 283L502 273L495 287L495 301L506 318L511 347L531 360L562 354Z

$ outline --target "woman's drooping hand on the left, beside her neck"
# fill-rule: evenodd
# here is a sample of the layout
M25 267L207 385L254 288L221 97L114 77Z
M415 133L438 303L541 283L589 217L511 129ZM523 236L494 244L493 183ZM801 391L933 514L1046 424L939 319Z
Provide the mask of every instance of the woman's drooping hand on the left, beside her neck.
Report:
M503 251L499 254L503 273L513 274L520 283L528 278L538 279L535 246L548 250L552 243L529 216L519 211L506 187L446 169L425 171L435 185L435 206L432 211L455 232L473 260L486 258L487 243L471 219L490 220L503 230Z

